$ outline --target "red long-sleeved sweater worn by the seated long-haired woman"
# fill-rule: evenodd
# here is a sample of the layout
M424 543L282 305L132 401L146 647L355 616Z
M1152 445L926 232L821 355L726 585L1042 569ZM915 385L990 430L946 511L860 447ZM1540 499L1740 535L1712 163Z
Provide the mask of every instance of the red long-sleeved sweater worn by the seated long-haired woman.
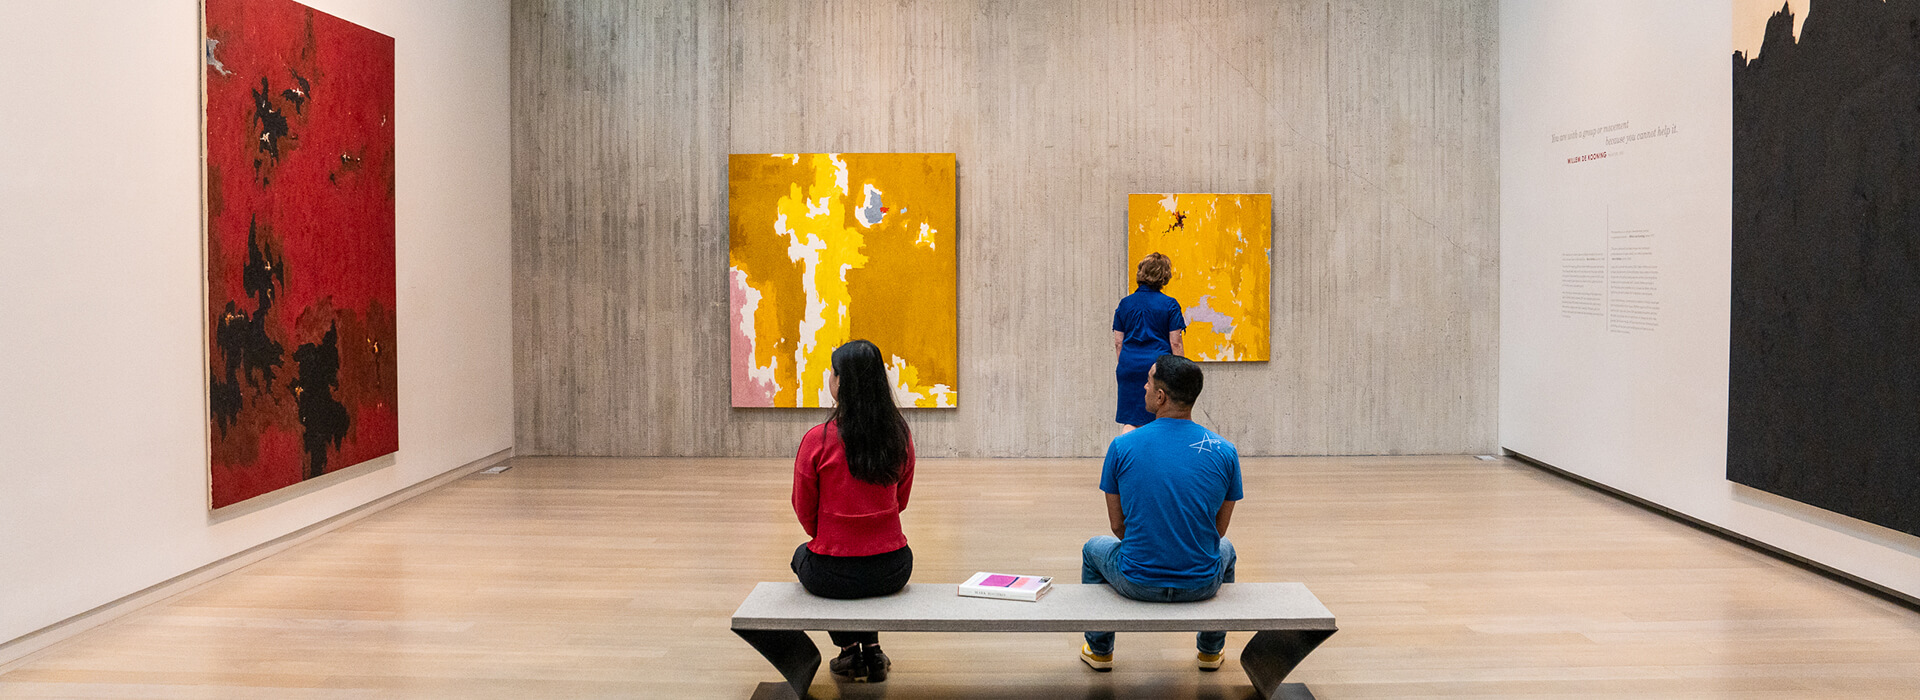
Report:
M906 439L900 481L874 485L847 472L847 445L833 422L824 422L801 439L793 458L793 514L806 527L814 554L872 556L906 547L900 510L914 489L914 439Z

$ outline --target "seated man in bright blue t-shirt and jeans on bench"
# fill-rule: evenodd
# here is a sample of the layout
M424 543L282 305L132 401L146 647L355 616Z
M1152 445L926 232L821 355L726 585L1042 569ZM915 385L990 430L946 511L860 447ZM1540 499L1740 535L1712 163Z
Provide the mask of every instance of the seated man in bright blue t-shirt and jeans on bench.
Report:
M1160 355L1146 372L1146 410L1154 422L1114 437L1100 468L1106 520L1114 537L1081 548L1081 583L1106 583L1135 600L1188 602L1233 583L1227 522L1240 501L1240 453L1192 422L1200 366ZM1196 639L1200 669L1215 671L1227 633ZM1081 662L1114 669L1114 633L1087 633Z

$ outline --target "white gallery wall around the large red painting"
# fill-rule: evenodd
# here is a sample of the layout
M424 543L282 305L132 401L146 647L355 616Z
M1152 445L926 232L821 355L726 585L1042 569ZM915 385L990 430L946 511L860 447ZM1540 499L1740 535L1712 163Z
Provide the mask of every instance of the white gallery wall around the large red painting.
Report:
M200 4L0 4L0 644L513 443L507 0L396 38L399 453L207 512Z

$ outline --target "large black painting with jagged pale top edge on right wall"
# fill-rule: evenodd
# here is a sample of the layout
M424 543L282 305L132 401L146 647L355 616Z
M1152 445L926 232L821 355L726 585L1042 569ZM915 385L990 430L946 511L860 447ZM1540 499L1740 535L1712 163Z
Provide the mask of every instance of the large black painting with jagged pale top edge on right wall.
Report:
M1734 2L1726 478L1920 535L1920 6Z

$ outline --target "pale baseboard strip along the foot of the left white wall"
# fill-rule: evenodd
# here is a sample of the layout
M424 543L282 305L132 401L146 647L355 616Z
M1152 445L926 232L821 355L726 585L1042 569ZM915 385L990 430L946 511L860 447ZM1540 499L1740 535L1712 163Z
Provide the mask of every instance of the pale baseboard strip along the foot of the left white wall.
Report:
M513 447L503 449L503 451L493 453L493 455L488 455L488 456L482 456L478 460L467 462L463 466L451 468L447 472L442 472L442 474L438 474L438 476L434 476L430 479L424 479L420 483L409 485L405 489L388 493L388 495L384 495L380 499L374 499L374 501L369 501L365 504L359 504L359 506L355 506L351 510L346 510L346 512L342 512L338 516L321 520L321 522L311 524L307 527L301 527L301 529L290 531L286 535L275 537L271 541L253 545L253 547L250 547L246 550L240 550L240 552L234 552L230 556L225 556L225 558L221 558L221 560L217 560L213 564L207 564L207 566L202 566L198 570L175 575L175 577L171 577L167 581L150 585L150 587L146 587L146 589L142 589L138 593L127 595L127 596L123 596L119 600L108 602L108 604L98 606L94 610L83 612L79 616L73 616L73 618L67 618L67 619L61 619L61 621L56 621L56 623L46 625L46 627L40 627L36 631L31 631L31 633L19 637L19 639L8 641L8 642L0 644L0 673L8 673L8 671L12 671L12 669L15 669L15 667L19 667L19 665L23 665L27 662L33 662L33 658L40 656L40 652L52 648L54 644L60 644L60 642L69 641L73 637L79 637L79 635L83 635L83 633L86 633L90 629L106 625L106 623L109 623L113 619L119 619L123 616L131 614L131 612L136 612L140 608L146 608L146 606L152 606L152 604L157 604L157 602L165 602L165 600L169 600L173 596L179 596L179 595L184 595L188 591L194 591L194 589L198 589L198 587L202 587L205 583L211 583L213 579L219 579L221 575L232 573L232 572L236 572L236 570L240 570L240 568L244 568L248 564L253 564L253 562L259 562L259 560L269 558L273 554L284 552L284 550L288 550L292 547L298 547L300 543L305 543L309 539L326 535L326 533L330 533L334 529L340 529L342 525L348 525L348 524L351 524L355 520L361 520L361 518L367 518L367 516L376 514L380 510L392 508L392 506L396 506L399 502L405 502L407 499L413 499L413 497L422 495L426 491L438 489L438 487L442 487L442 485L445 485L445 483L449 483L453 479L459 479L463 476L480 472L480 470L484 470L488 466L493 466L493 464L499 464L499 462L503 462L507 458L513 458Z

